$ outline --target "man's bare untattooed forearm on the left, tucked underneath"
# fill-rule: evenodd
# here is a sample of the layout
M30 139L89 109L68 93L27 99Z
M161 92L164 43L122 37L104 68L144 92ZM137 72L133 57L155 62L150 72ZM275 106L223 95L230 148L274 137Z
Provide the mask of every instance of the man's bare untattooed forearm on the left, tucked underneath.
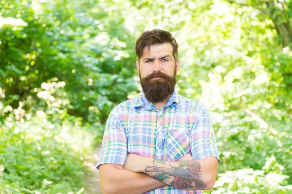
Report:
M166 185L144 173L136 173L114 166L101 165L100 171L103 194L143 194Z

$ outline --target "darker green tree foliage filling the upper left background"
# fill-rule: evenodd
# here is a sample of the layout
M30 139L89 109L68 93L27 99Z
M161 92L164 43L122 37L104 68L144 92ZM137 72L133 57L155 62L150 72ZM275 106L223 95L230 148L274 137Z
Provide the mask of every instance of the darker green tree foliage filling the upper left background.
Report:
M84 119L92 106L96 122L104 122L116 103L127 100L128 90L134 90L128 59L135 59L133 49L126 47L134 40L121 21L115 23L119 33L111 30L115 18L99 3L1 3L5 22L0 28L0 87L8 99L14 99L9 103L12 107L52 78L66 82L69 111ZM15 16L18 22L11 18Z

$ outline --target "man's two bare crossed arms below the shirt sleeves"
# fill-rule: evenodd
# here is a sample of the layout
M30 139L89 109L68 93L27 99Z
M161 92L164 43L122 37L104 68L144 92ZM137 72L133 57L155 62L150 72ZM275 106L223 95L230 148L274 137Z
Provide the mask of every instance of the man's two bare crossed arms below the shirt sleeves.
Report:
M129 154L124 166L100 165L104 194L146 193L169 185L183 190L210 190L216 180L218 159L193 160L190 154L177 162ZM134 191L134 192L133 192Z

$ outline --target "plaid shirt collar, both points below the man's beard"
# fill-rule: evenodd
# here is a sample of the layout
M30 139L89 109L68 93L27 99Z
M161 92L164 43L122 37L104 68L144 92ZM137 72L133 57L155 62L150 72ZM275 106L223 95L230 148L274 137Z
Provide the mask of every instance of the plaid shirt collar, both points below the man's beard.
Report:
M172 105L173 103L177 103L179 104L180 98L179 98L179 94L177 93L176 90L174 90L174 92L172 93L172 95L170 96L170 98L168 99L165 107ZM137 98L136 101L136 107L142 106L144 108L146 108L147 110L151 110L152 108L152 103L150 103L146 97L145 97L145 93L143 92L143 90L139 93L139 96Z

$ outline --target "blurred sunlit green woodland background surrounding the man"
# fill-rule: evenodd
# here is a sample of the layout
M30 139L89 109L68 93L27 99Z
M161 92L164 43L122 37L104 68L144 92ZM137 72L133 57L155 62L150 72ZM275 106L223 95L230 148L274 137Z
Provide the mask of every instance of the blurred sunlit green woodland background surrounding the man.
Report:
M292 193L290 0L0 0L0 194L80 194L135 40L170 31L177 90L210 110L212 194Z

